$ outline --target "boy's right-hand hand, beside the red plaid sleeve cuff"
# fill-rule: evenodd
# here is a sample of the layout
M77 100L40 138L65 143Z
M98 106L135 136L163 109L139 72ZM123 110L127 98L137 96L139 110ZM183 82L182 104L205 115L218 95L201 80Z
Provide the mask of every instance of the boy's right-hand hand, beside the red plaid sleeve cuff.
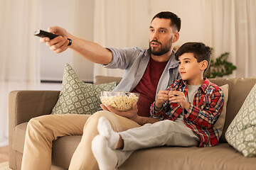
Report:
M181 91L169 91L169 101L171 103L179 103L181 107L186 108L188 110L190 104L186 100L186 96Z

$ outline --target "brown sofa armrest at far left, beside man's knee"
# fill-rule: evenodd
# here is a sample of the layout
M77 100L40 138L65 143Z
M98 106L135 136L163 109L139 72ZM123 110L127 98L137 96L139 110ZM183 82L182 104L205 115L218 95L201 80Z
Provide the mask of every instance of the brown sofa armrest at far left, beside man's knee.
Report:
M9 159L14 157L13 138L16 125L31 118L50 114L58 101L60 91L11 91L9 94ZM10 167L11 167L10 164ZM14 168L15 169L15 168Z

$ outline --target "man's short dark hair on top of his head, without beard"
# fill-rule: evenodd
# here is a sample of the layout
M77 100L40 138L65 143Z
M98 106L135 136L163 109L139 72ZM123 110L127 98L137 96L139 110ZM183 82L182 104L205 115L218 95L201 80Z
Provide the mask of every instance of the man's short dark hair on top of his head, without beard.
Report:
M171 19L171 27L178 30L178 32L181 30L181 18L178 18L178 16L175 13L172 13L170 11L162 11L160 13L157 13L151 20L154 20L154 18L164 18L164 19Z

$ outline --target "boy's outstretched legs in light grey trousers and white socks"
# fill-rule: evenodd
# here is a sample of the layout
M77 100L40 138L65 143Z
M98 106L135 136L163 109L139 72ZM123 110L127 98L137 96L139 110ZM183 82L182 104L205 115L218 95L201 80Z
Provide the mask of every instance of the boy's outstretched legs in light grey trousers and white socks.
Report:
M124 132L114 132L106 118L100 118L97 135L92 141L92 151L95 154L100 169L114 169L121 166L134 150L167 146L198 146L199 138L191 129L181 123L164 120L154 124L146 124ZM124 140L124 148L116 150L119 135ZM117 164L118 163L118 164Z

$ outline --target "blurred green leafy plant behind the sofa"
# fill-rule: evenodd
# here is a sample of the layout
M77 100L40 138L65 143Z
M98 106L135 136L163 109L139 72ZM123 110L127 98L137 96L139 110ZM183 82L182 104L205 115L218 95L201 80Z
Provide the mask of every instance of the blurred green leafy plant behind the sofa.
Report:
M224 75L232 74L233 70L236 67L228 62L229 52L225 52L220 57L216 58L216 60L210 60L210 66L208 70L205 72L204 76L209 78L215 77L223 77Z

